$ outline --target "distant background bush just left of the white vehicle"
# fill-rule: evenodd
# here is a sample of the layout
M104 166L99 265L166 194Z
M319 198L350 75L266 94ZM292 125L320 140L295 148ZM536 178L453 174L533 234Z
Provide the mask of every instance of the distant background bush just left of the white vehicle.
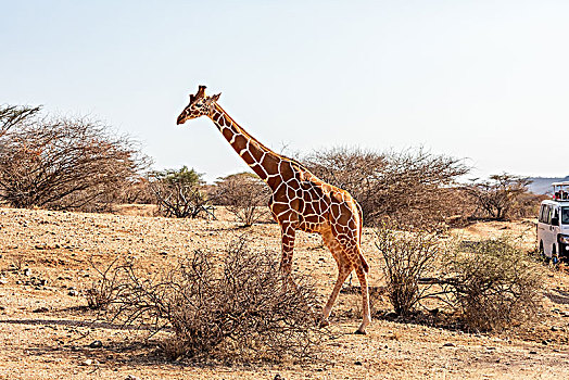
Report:
M538 199L528 194L530 183L527 177L504 173L488 180L473 179L465 189L485 217L501 220L527 215L528 208L536 212Z

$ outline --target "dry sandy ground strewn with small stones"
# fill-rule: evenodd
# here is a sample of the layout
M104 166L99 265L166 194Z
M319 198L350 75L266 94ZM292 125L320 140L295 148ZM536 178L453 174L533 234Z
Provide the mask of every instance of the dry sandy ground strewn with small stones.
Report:
M148 211L144 211L147 215ZM80 214L0 208L0 379L548 379L569 376L569 277L549 271L543 322L500 334L476 334L376 318L367 335L352 334L358 295L342 293L332 318L340 338L323 346L316 363L195 367L161 362L137 344L132 332L97 324L83 295L94 277L89 257L110 263L130 255L149 267L175 262L197 248L223 248L240 235L254 246L279 250L275 224L238 228L222 220L177 220L122 214ZM531 223L485 223L467 239L510 232L531 244ZM315 269L326 296L334 262L316 236L300 233L296 270ZM374 233L364 233L370 286L384 284ZM16 270L18 269L18 270ZM26 271L25 269L29 269ZM78 293L78 294L75 294ZM376 308L389 311L385 300ZM94 340L102 347L90 349ZM89 362L89 359L91 362ZM87 362L86 362L87 360Z

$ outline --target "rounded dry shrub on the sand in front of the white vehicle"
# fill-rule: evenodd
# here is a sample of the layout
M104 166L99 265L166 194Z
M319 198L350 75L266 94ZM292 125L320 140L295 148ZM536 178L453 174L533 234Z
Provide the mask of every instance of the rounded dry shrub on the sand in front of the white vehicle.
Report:
M508 238L463 244L444 259L445 282L465 322L501 330L534 318L543 267Z

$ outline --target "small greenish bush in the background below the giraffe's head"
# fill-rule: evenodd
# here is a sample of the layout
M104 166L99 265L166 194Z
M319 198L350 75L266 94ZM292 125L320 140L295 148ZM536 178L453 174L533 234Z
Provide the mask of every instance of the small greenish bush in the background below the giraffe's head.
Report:
M154 193L159 212L167 217L195 218L200 214L212 214L202 175L184 166L179 170L163 170L151 174L150 189Z

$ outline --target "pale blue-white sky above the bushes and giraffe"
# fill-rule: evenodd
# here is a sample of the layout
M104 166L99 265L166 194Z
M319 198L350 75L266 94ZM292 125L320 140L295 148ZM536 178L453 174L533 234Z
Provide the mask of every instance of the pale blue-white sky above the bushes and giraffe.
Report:
M156 168L246 169L198 85L280 152L425 147L569 175L569 1L4 1L0 104L90 115Z

